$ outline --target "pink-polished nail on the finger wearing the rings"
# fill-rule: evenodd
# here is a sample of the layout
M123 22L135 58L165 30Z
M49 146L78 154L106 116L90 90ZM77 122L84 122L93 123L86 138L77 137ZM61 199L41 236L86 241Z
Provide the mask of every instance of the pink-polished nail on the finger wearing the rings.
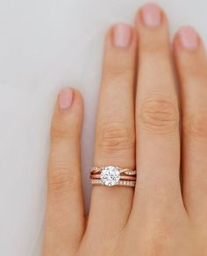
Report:
M132 40L132 28L126 24L114 26L113 42L118 48L127 48Z

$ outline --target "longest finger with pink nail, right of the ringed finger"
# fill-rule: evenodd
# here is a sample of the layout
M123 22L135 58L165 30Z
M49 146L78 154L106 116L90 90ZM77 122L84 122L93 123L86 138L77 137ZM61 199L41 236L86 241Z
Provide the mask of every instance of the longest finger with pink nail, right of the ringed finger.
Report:
M171 206L172 201L181 198L181 188L179 110L168 43L168 20L156 4L146 4L136 17L136 26L139 33L136 99L139 179L134 209L138 216L136 209L144 210L146 205Z

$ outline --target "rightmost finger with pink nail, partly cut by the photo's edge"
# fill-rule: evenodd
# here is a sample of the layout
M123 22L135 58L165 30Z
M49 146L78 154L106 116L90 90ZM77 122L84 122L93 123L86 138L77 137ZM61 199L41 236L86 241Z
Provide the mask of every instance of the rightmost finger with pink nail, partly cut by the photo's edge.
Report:
M183 197L189 215L207 215L207 59L192 27L175 37L175 62L181 80ZM206 234L207 235L207 234Z

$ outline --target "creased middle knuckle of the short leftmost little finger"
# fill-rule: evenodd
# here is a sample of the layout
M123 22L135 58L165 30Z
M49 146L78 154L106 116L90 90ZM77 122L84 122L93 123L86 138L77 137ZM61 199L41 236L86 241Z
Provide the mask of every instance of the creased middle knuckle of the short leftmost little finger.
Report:
M48 187L57 196L65 196L73 191L77 186L76 175L68 168L56 168L51 170L48 175Z

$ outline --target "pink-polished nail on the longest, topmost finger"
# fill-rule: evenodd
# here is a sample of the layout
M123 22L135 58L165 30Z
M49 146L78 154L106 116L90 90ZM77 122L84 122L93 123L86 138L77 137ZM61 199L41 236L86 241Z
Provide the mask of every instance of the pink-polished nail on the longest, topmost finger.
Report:
M161 9L157 4L144 5L141 14L145 26L154 28L161 25Z

